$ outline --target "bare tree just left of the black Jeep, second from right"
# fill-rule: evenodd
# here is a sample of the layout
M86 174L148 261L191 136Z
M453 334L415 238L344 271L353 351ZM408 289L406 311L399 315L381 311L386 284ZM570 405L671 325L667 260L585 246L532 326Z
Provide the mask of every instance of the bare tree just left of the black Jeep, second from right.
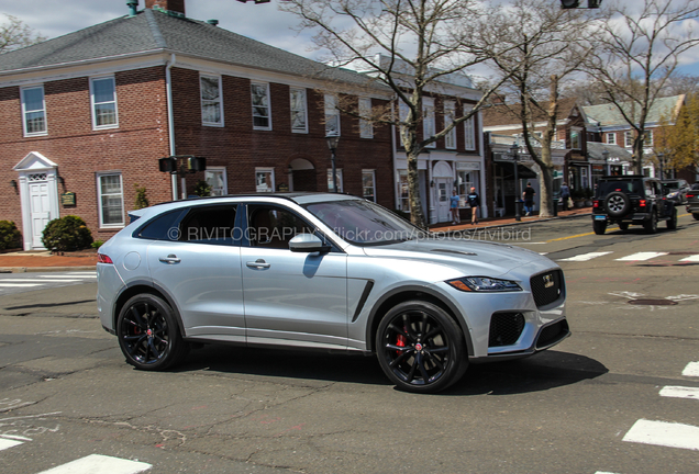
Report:
M515 0L500 10L497 21L484 19L480 24L482 31L491 32L482 35L485 41L502 41L504 32L510 46L492 56L496 74L504 80L500 90L517 99L500 106L508 108L509 115L521 123L526 153L541 169L542 216L553 213L552 142L558 120L559 81L577 71L589 54L585 40L588 14L562 10L548 0ZM534 122L545 122L539 128L539 143L533 138Z

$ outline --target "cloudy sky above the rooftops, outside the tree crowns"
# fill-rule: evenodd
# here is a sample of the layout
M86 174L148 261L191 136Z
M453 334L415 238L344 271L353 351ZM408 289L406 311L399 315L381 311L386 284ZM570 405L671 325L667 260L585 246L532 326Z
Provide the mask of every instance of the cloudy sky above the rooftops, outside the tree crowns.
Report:
M508 0L504 0L506 2ZM558 2L558 0L551 0ZM639 0L604 0L617 4L637 4ZM670 0L679 1L679 0ZM298 34L299 20L277 9L279 0L256 4L237 0L185 0L187 16L196 20L219 20L219 26L281 49L319 59L321 52L312 49L311 33ZM138 0L138 9L145 0ZM126 0L0 0L0 13L16 16L34 32L47 38L71 33L129 13ZM0 22L4 16L0 15ZM683 60L680 72L699 76L699 48ZM486 70L467 71L488 76Z

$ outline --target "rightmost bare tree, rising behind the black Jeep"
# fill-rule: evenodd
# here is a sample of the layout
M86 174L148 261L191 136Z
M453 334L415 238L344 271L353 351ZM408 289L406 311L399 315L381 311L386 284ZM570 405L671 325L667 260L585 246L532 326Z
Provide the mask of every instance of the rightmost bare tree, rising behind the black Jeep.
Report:
M633 131L633 165L643 171L646 120L653 103L669 84L680 57L699 43L692 20L699 18L696 0L643 0L617 7L591 31L596 52L588 68ZM639 2L641 3L641 2Z

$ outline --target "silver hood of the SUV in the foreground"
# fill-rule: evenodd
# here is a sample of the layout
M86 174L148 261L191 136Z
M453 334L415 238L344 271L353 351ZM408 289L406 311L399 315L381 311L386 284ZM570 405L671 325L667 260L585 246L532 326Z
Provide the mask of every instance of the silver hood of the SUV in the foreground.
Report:
M532 250L484 240L433 238L364 247L369 257L395 258L444 264L465 274L499 276L522 266L532 269L556 267Z

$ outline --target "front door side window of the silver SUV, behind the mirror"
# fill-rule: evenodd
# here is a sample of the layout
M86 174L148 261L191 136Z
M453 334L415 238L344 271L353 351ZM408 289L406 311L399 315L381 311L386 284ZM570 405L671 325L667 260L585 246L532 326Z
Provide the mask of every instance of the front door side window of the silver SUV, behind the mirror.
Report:
M277 206L248 206L247 238L252 247L288 249L298 234L312 234L313 228L297 214Z

